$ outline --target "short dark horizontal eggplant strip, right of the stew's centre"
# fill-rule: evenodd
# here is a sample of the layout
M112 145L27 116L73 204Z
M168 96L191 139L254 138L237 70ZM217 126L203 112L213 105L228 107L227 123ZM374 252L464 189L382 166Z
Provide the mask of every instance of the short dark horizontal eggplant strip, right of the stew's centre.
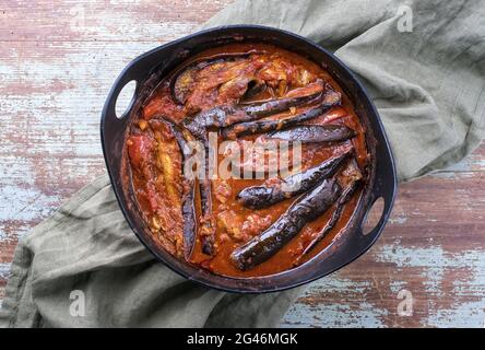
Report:
M268 139L300 141L301 143L330 143L352 139L355 131L344 125L301 125L270 132Z

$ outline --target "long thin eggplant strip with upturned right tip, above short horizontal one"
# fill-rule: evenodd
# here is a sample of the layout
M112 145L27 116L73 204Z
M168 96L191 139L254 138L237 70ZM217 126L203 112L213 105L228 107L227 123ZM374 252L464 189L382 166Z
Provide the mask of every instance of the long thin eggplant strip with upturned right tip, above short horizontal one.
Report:
M320 104L317 106L299 114L294 117L288 117L279 120L258 120L258 121L246 121L239 122L225 127L221 130L221 135L224 139L236 139L240 136L270 132L273 130L281 130L294 125L301 124L303 121L316 118L330 108L340 105L341 95L339 92L328 89Z

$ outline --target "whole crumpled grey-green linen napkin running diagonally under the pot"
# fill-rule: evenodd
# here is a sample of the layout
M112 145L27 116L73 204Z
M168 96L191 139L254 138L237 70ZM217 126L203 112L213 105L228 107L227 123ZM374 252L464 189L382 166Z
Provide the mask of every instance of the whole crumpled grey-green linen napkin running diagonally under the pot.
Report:
M401 180L469 154L484 135L481 1L237 1L205 27L263 24L335 52L370 92ZM139 243L108 177L72 197L15 250L0 325L274 326L301 289L228 294L171 272Z

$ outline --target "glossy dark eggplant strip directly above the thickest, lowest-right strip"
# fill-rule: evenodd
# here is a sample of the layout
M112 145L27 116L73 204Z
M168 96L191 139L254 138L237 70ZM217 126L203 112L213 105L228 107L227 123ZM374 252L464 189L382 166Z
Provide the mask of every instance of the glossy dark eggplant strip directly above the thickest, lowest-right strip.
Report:
M236 199L247 208L262 209L295 197L314 188L323 178L333 176L351 153L352 151L347 151L331 158L315 167L283 178L276 184L247 187L236 196ZM285 188L288 190L285 191Z

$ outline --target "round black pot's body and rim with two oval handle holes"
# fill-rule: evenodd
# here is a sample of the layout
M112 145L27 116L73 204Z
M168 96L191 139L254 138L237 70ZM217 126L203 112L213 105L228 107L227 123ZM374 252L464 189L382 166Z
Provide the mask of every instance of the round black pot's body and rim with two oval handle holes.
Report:
M162 77L186 58L210 47L234 42L262 42L297 52L321 63L353 101L366 127L366 141L371 154L369 182L347 228L334 243L308 262L284 272L258 278L229 278L178 260L154 242L145 228L133 194L127 190L125 140L131 112L149 96ZM118 118L117 97L130 81L137 82L135 95L128 113ZM390 215L397 190L394 162L379 115L363 85L336 57L315 43L289 32L256 25L222 26L202 31L155 48L131 61L115 82L103 109L102 143L106 166L121 211L140 241L156 258L189 280L206 287L241 293L274 292L297 287L329 275L364 254L379 237ZM129 184L128 184L129 187ZM378 198L383 198L383 212L377 225L363 232L366 214Z

